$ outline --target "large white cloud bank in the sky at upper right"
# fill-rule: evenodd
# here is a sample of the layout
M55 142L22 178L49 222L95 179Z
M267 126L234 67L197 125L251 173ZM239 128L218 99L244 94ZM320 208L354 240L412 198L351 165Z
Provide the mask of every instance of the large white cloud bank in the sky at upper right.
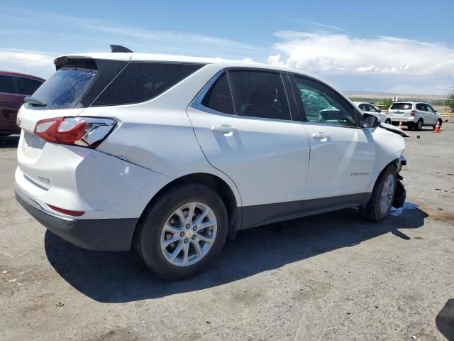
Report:
M275 36L281 41L274 45L277 54L268 58L272 64L283 63L323 77L375 75L381 83L389 80L392 89L388 90L419 91L418 82L423 82L426 90L440 93L453 82L454 49L443 45L387 36L353 38L297 31L279 31Z

